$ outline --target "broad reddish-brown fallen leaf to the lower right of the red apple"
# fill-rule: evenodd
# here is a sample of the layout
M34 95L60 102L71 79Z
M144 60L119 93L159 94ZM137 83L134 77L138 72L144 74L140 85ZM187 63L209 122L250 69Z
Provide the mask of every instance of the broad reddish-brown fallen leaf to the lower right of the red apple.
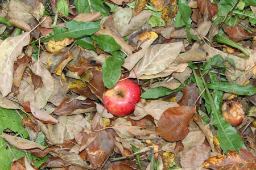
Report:
M180 141L188 134L188 126L194 113L195 107L180 106L167 109L158 122L158 128L155 128L156 134L167 141Z

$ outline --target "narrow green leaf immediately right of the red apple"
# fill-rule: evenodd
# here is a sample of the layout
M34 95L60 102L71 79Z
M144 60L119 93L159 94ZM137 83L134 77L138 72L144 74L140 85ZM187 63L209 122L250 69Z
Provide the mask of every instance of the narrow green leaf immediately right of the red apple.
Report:
M174 92L181 91L183 86L181 85L179 88L175 90L170 90L165 87L157 87L157 88L151 88L147 91L145 91L141 97L144 99L158 99L159 97L170 95Z

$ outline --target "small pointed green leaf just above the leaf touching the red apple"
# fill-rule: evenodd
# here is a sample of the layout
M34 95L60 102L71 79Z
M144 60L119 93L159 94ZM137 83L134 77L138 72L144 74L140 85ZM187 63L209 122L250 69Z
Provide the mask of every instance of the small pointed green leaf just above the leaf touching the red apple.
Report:
M93 35L92 39L95 40L96 44L100 46L100 49L104 50L105 52L112 53L121 49L121 46L117 44L115 39L110 35Z

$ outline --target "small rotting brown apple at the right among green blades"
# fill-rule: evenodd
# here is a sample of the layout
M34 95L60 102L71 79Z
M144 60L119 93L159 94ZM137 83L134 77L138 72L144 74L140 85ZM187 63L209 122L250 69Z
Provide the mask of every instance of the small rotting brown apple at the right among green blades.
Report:
M222 117L232 126L238 126L245 118L242 104L239 101L227 101L221 107Z

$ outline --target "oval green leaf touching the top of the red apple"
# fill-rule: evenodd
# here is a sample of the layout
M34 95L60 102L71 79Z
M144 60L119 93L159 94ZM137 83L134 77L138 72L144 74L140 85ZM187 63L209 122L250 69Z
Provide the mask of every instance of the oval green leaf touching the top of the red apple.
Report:
M106 88L112 88L121 77L121 67L125 61L120 52L114 52L113 57L105 59L102 65L102 77Z

